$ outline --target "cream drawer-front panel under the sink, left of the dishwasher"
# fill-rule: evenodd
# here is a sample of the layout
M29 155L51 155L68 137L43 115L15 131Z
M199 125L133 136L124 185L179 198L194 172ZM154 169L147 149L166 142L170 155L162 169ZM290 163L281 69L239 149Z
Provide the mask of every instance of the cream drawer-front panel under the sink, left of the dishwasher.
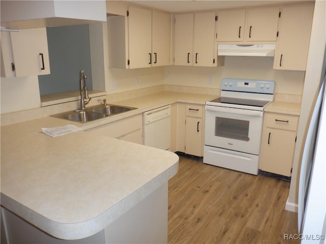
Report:
M102 127L94 128L91 130L90 133L109 136L113 138L120 138L137 130L143 130L142 114L121 119L108 125L104 125Z

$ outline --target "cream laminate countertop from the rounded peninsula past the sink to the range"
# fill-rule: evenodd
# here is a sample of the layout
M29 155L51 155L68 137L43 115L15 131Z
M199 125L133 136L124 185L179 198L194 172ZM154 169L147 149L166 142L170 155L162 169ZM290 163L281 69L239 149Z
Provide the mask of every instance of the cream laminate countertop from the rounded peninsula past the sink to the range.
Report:
M46 116L1 127L1 205L58 238L97 233L173 177L178 156L87 131L52 138L41 128L88 129L174 102L204 104L213 97L161 92L115 103L138 109L93 123Z

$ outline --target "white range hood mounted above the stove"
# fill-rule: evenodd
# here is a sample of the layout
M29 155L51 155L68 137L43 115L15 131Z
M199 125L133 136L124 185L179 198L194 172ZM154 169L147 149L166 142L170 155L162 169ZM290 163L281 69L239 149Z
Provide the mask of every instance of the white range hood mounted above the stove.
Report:
M274 56L275 44L219 44L219 56Z

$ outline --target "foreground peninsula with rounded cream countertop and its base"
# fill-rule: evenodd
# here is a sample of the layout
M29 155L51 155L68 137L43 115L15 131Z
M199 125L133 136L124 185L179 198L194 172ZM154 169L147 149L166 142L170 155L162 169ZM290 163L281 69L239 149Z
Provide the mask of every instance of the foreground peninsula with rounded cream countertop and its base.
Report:
M69 122L44 117L1 130L2 218L7 223L6 234L15 239L11 243L37 240L30 236L33 231L47 243L85 237L92 239L78 243L116 242L111 234L126 240L128 224L139 229L132 218L159 231L147 241L167 242L167 182L178 171L178 156L86 131L54 138L41 132L42 127L78 124ZM134 217L137 214L141 216ZM17 216L51 236L29 224L25 228L27 222ZM155 223L148 222L151 218ZM15 231L21 231L20 227L25 232L18 237ZM95 237L88 237L92 235Z

